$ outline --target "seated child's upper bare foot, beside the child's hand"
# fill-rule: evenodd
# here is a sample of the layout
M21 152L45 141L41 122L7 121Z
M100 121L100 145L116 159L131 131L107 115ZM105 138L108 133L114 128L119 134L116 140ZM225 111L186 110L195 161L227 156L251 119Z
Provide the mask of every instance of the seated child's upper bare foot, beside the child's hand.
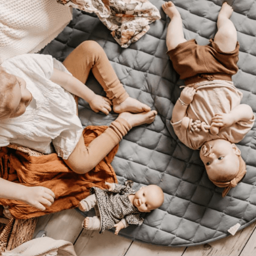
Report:
M115 113L140 113L144 111L149 112L150 107L134 98L128 97L125 101L121 102L120 104L113 105L113 111Z

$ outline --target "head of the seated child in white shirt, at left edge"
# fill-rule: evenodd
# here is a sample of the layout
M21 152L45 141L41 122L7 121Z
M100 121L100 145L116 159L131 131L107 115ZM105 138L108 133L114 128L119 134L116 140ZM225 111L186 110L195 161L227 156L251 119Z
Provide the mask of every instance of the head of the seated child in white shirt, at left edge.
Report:
M32 100L26 82L0 67L0 119L22 115Z

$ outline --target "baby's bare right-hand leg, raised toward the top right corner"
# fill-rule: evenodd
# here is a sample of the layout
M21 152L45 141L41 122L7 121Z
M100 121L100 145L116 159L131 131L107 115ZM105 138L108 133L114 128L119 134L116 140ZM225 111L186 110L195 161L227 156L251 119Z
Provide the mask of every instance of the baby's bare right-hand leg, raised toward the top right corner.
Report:
M237 45L237 30L229 19L232 12L232 7L224 2L217 19L218 31L214 36L214 42L223 52L232 52Z

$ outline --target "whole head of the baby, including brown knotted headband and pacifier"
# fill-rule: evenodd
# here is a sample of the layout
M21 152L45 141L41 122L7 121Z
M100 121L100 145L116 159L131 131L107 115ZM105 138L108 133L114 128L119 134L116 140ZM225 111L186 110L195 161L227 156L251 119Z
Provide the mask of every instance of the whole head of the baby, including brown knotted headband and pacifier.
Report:
M244 177L246 167L241 152L234 143L214 139L202 145L200 158L208 178L219 187L226 187L223 196Z

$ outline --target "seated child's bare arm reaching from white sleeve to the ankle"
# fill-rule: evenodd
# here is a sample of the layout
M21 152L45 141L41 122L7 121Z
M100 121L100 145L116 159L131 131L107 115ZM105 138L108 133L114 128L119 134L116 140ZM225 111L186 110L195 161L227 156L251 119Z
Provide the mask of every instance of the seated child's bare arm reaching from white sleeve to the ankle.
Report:
M76 77L54 68L51 81L59 84L65 90L87 101L94 112L103 112L106 115L111 111L112 101L95 94Z

